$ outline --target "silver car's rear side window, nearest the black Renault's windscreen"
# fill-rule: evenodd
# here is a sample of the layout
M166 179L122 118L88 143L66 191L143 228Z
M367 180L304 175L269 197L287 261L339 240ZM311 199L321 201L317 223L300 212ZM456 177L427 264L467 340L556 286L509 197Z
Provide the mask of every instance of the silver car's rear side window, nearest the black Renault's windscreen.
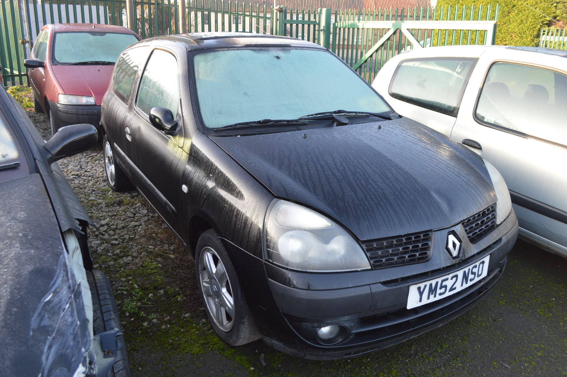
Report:
M476 59L405 60L390 83L393 98L450 116L457 116L464 88Z

